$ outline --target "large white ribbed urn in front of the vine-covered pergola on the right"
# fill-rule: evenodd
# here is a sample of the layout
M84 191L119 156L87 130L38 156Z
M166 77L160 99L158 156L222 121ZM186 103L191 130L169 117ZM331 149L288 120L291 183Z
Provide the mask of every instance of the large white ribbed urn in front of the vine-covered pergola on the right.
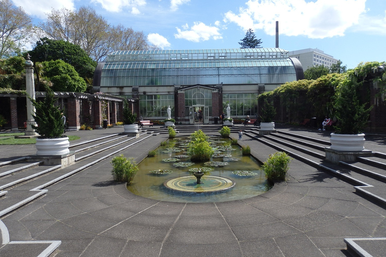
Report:
M331 150L358 152L364 150L364 134L347 135L331 133Z

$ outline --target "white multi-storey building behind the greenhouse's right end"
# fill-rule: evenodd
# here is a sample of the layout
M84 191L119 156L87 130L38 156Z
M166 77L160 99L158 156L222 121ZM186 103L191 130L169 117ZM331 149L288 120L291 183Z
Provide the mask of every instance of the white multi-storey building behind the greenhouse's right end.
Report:
M324 65L330 68L332 64L336 64L339 61L322 50L313 48L289 51L288 57L297 58L302 63L304 71L317 65Z

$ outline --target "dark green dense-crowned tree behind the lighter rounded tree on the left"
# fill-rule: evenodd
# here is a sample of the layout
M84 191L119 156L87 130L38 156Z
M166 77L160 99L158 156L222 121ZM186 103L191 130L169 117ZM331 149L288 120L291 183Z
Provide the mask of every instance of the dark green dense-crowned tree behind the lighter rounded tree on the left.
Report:
M92 78L96 63L78 45L63 40L41 38L29 52L33 62L63 60L71 64L82 78Z

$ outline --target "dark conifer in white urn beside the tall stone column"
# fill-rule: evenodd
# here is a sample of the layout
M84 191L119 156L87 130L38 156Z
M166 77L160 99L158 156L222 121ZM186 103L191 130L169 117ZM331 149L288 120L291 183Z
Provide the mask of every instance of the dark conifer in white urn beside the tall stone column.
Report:
M48 86L45 87L46 96L43 101L30 100L35 106L32 115L37 126L32 128L40 135L36 139L37 155L64 155L68 154L70 145L68 137L64 133L64 120L62 111L55 106L54 92Z

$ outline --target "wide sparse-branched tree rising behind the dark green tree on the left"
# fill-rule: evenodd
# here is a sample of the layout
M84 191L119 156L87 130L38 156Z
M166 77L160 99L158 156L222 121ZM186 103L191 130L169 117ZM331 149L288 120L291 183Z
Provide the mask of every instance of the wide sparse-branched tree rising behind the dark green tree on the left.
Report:
M40 26L49 38L80 46L96 62L116 50L149 48L143 32L134 32L123 25L112 27L91 7L81 7L77 11L53 9Z

